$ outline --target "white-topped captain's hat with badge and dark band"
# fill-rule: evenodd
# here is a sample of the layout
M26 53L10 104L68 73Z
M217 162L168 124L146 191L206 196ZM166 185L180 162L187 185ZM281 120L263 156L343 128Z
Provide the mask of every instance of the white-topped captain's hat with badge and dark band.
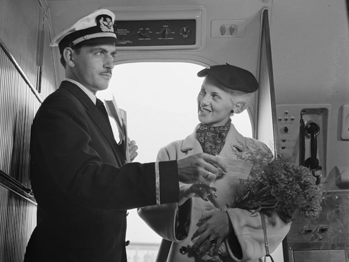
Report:
M98 9L57 34L50 46L58 46L62 54L65 47L98 43L123 43L114 32L115 14L108 9Z

